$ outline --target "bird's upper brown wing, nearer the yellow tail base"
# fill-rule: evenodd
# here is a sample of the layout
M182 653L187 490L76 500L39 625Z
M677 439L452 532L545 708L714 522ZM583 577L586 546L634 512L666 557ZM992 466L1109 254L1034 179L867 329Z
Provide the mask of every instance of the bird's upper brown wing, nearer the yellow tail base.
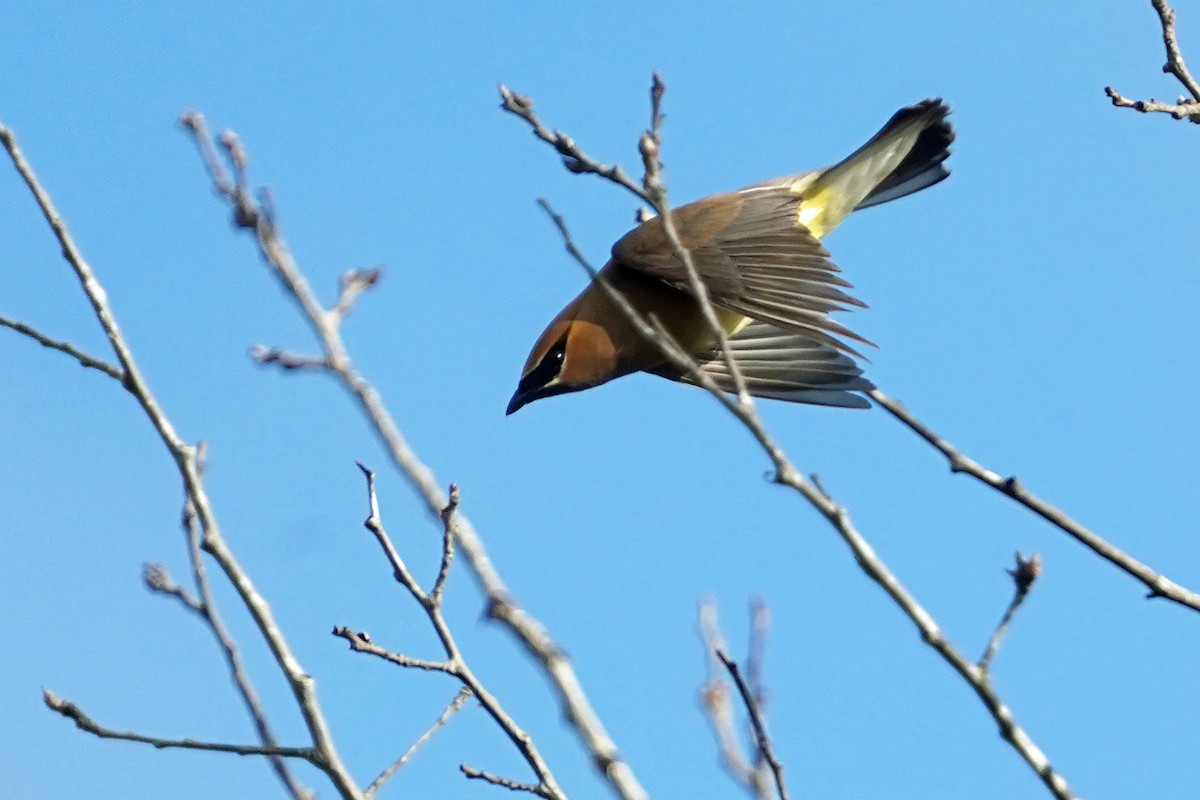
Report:
M689 203L671 216L714 305L854 353L835 337L870 342L829 312L864 303L842 290L850 283L800 224L800 199L788 185L754 186ZM690 293L660 218L625 234L612 254L618 264Z

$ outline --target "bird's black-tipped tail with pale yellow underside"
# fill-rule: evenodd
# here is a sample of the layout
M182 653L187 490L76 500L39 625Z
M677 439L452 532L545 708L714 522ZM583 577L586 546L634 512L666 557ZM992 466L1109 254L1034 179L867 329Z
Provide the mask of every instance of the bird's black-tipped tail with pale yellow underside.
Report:
M821 206L826 230L846 215L912 194L946 179L954 130L950 109L925 100L896 112L870 142L821 173L804 191L805 204ZM811 200L810 200L811 198Z

